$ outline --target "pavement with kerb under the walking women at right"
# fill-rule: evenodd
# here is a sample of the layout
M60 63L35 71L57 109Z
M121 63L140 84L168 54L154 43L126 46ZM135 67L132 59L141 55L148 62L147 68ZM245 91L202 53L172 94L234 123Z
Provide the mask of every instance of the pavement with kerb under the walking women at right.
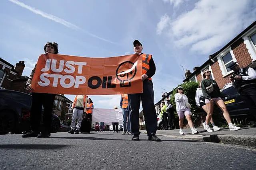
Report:
M178 139L188 139L194 141L213 142L222 144L239 145L256 148L256 128L243 127L238 131L230 131L229 128L221 128L220 131L208 133L203 128L196 128L198 134L192 134L190 129L183 129L184 135L180 135L179 129L158 130L156 135L164 135ZM146 130L142 132L146 133Z

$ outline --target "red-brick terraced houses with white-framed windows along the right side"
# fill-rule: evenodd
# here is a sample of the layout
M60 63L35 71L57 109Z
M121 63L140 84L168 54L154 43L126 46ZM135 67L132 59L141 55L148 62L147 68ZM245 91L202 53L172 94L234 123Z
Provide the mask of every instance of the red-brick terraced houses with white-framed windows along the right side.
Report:
M186 70L186 81L202 80L203 71L208 68L212 71L212 78L215 80L220 89L225 84L230 83L232 70L228 66L237 62L240 67L256 66L256 21L248 26L244 31L238 34L228 44L216 53L209 55L209 59L199 67L194 67L193 71Z

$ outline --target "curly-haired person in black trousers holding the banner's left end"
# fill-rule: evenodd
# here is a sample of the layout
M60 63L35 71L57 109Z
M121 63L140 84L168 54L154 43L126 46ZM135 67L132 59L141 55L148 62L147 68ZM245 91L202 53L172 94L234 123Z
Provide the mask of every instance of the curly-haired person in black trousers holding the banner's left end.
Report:
M44 52L44 56L48 55L48 53L58 54L58 44L47 42L44 45ZM32 92L32 105L30 112L31 130L28 133L22 135L22 137L50 137L50 129L52 124L52 107L55 99L55 94L33 92L34 89L31 87L31 82L35 70L36 66L32 70L30 77L28 78L28 81L26 83L27 89ZM39 134L42 106L44 106L44 126L42 132Z

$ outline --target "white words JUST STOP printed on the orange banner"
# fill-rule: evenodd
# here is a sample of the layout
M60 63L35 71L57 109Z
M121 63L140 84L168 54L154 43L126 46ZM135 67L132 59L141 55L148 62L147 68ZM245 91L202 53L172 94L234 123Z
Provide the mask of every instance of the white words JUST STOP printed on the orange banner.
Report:
M59 66L58 68L56 68L58 61L56 59L47 59L46 63L45 63L45 67L42 68L42 73L40 75L40 82L38 82L38 84L42 87L46 87L50 85L50 80L48 78L53 78L52 81L52 87L57 87L58 86L58 82L60 81L60 86L62 86L63 88L71 88L72 86L74 86L74 88L79 88L80 84L84 84L86 83L86 78L84 76L76 76L74 78L74 76L72 75L62 75L62 74L49 74L46 73L46 71L49 71L50 68L52 70L52 72L66 72L67 74L71 74L74 73L76 71L76 68L74 67L74 65L78 65L78 69L77 69L77 74L82 74L82 70L83 70L83 66L86 66L86 62L75 62L75 61L65 61L64 60L60 60L59 62ZM64 64L67 68L64 69ZM66 83L66 80L69 80L69 83Z

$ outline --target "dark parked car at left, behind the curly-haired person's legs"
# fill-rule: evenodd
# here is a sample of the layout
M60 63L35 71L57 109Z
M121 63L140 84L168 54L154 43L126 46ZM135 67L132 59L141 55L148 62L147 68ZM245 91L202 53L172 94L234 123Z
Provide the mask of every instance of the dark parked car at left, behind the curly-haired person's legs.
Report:
M32 96L14 90L0 89L0 135L30 130ZM41 119L42 123L42 119ZM60 119L52 115L52 133L60 128Z

